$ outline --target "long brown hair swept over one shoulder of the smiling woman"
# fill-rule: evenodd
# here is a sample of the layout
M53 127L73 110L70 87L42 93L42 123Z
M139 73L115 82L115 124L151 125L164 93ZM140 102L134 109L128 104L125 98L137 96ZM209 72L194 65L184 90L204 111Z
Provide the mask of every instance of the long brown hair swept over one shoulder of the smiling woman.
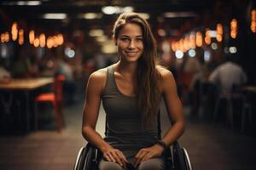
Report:
M143 31L143 54L137 61L137 108L142 111L143 127L150 127L154 125L160 100L160 91L157 87L160 73L156 70L155 61L157 57L156 42L147 20L144 20L137 13L119 15L113 26L115 39L127 23L137 24Z

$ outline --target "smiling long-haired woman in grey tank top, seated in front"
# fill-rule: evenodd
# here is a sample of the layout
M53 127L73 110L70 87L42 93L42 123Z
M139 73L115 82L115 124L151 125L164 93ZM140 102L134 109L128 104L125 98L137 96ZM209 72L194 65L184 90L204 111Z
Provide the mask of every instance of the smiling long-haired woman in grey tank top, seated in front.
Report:
M120 14L113 26L119 61L90 75L83 110L84 139L102 151L101 170L162 170L163 152L184 131L176 82L155 64L156 44L139 14ZM158 138L157 116L163 96L172 127ZM100 103L107 114L105 139L96 132ZM129 166L128 166L129 165Z

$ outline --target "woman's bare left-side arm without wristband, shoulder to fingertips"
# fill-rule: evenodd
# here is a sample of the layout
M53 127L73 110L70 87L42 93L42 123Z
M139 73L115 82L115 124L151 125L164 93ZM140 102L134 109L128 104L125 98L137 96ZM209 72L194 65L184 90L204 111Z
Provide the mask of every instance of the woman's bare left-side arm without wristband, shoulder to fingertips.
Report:
M102 136L96 132L96 122L101 104L102 89L106 82L106 71L96 71L90 75L86 88L86 97L83 109L82 133L84 139L95 145L102 151L103 156L108 161L116 161L119 165L124 165L126 158L119 150L113 149Z

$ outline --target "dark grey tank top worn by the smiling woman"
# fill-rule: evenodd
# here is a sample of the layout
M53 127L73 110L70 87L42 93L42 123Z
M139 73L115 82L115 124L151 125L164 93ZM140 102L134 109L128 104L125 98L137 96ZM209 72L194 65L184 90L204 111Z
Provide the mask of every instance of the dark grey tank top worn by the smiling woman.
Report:
M157 123L150 129L143 128L141 114L137 110L136 97L127 96L119 91L112 65L107 68L102 105L108 120L105 140L114 148L123 151L128 160L131 160L138 150L157 142ZM157 122L157 114L155 122Z

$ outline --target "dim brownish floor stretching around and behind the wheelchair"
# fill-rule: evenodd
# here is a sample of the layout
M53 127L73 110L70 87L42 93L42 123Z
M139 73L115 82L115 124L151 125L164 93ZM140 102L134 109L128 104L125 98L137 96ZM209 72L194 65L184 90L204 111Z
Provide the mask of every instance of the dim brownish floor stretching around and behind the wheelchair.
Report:
M41 128L25 136L0 137L0 169L73 169L79 148L85 143L80 133L82 108L82 103L65 108L67 127L62 133ZM101 110L96 128L100 133L105 124L103 115ZM161 119L165 131L169 122L165 114ZM256 169L256 138L221 123L188 121L179 143L188 150L196 170Z

